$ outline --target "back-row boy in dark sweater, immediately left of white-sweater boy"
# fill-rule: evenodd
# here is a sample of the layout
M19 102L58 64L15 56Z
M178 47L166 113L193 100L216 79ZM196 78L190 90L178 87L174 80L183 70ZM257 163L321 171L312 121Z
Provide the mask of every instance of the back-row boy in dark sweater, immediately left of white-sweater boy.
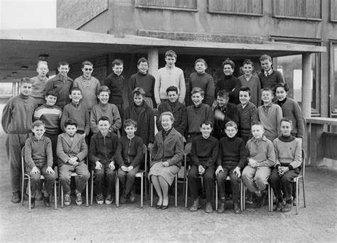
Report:
M138 72L130 77L129 80L129 104L134 102L133 91L141 87L144 92L144 102L153 110L154 109L154 76L150 75L149 61L146 58L139 58L137 63Z

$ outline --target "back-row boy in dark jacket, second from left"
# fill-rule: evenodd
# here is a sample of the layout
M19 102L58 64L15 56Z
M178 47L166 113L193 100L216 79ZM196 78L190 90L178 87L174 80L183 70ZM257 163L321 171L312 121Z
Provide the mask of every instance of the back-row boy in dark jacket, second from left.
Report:
M58 75L48 80L46 84L46 92L49 90L58 91L58 101L55 105L61 109L65 107L65 104L70 103L69 91L73 87L73 80L68 77L69 71L69 63L65 60L60 61L58 63Z

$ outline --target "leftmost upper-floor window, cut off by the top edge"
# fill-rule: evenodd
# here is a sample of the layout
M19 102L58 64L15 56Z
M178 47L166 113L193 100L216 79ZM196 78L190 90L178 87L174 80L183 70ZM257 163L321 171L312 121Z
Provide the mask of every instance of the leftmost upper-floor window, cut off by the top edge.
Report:
M138 8L197 11L197 0L136 0Z

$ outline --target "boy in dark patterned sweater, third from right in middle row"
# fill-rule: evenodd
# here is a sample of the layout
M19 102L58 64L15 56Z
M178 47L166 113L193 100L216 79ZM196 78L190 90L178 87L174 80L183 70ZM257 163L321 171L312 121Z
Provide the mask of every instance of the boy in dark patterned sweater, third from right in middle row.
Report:
M247 86L240 87L239 99L241 104L237 104L237 111L239 112L239 136L245 144L252 138L251 127L252 124L259 120L257 114L257 107L250 102L250 88Z

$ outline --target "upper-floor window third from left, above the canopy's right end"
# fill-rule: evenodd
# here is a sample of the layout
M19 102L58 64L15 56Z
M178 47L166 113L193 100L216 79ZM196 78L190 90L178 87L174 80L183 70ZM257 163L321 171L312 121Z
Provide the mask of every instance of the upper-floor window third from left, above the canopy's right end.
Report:
M273 13L277 18L321 21L321 6L321 0L274 0Z

